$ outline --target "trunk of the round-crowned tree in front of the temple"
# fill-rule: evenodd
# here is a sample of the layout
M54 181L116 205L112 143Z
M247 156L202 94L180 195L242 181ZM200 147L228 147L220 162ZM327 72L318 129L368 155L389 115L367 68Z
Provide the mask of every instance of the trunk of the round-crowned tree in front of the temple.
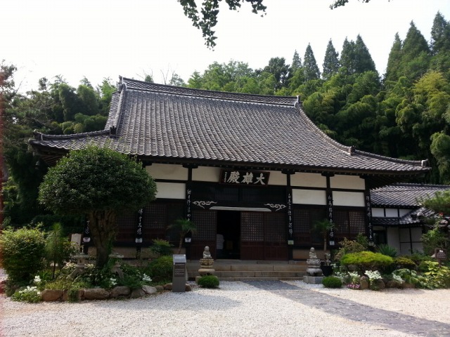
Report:
M108 263L116 227L114 211L93 211L89 213L89 229L96 246L96 267L98 269Z

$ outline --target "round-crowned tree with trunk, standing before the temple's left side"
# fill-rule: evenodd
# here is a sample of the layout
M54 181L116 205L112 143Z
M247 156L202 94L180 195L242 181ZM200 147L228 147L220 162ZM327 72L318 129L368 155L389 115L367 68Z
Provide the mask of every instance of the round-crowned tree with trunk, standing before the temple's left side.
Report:
M51 167L39 201L60 214L86 214L96 246L96 266L108 261L117 231L116 214L137 211L155 199L156 185L142 165L126 155L88 145Z

